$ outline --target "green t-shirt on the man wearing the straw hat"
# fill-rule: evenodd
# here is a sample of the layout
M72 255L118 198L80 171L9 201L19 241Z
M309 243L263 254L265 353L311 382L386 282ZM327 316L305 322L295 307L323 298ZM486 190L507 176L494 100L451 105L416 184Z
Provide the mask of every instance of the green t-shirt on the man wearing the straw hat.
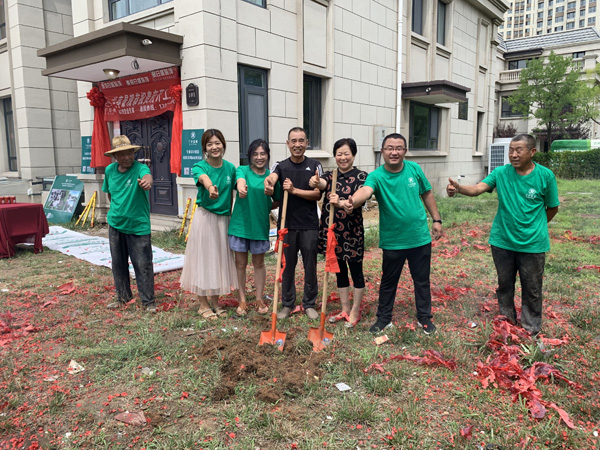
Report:
M110 194L108 224L121 233L143 236L150 234L150 201L138 180L150 174L145 164L134 161L127 172L119 172L119 163L110 164L104 172L102 190Z

